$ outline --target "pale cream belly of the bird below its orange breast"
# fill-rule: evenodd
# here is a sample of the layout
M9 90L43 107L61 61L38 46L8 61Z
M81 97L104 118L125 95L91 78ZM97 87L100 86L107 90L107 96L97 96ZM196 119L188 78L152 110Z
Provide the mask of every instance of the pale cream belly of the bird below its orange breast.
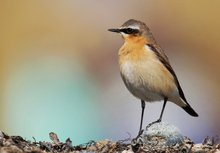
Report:
M120 68L126 87L139 99L148 102L160 101L177 91L174 83L171 82L173 80L165 76L159 61L148 60L135 63L126 61Z

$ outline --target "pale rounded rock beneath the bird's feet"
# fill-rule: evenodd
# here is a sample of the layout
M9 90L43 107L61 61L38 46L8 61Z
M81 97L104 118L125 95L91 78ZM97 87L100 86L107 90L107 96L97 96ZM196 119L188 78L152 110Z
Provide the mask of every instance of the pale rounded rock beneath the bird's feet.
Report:
M166 152L168 148L179 150L183 142L184 137L176 126L160 122L148 125L142 134L132 140L131 146L134 152L140 151L140 148L147 151L154 151L154 148Z

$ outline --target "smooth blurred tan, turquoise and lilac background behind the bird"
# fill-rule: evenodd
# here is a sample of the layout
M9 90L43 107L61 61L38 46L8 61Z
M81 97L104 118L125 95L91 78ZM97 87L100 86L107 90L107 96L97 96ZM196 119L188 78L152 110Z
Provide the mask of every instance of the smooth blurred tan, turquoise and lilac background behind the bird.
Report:
M220 1L1 0L0 130L74 144L135 137L141 104L119 74L119 27L144 21L168 54L193 118L169 103L163 120L195 142L220 134ZM144 124L162 103L146 105Z

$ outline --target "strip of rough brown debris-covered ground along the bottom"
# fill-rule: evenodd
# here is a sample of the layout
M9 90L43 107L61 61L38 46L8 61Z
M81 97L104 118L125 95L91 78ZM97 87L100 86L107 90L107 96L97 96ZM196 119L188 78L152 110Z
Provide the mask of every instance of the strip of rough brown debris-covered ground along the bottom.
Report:
M117 142L90 141L73 146L69 138L66 142L60 142L53 132L49 133L49 137L51 142L31 142L21 136L8 136L0 131L0 153L220 153L217 139L208 137L201 144L194 144L184 137L181 144L172 146L137 143L137 139L130 138ZM160 141L160 138L157 140Z

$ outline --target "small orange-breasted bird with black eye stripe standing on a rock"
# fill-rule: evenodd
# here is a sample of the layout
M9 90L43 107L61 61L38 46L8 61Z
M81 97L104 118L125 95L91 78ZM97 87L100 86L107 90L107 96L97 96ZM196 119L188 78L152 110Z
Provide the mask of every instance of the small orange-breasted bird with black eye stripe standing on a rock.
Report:
M163 101L159 119L147 127L162 121L167 101L198 117L187 102L168 57L144 22L129 19L119 28L108 31L119 33L124 39L118 52L120 74L127 89L141 101L139 134L143 131L145 102Z

